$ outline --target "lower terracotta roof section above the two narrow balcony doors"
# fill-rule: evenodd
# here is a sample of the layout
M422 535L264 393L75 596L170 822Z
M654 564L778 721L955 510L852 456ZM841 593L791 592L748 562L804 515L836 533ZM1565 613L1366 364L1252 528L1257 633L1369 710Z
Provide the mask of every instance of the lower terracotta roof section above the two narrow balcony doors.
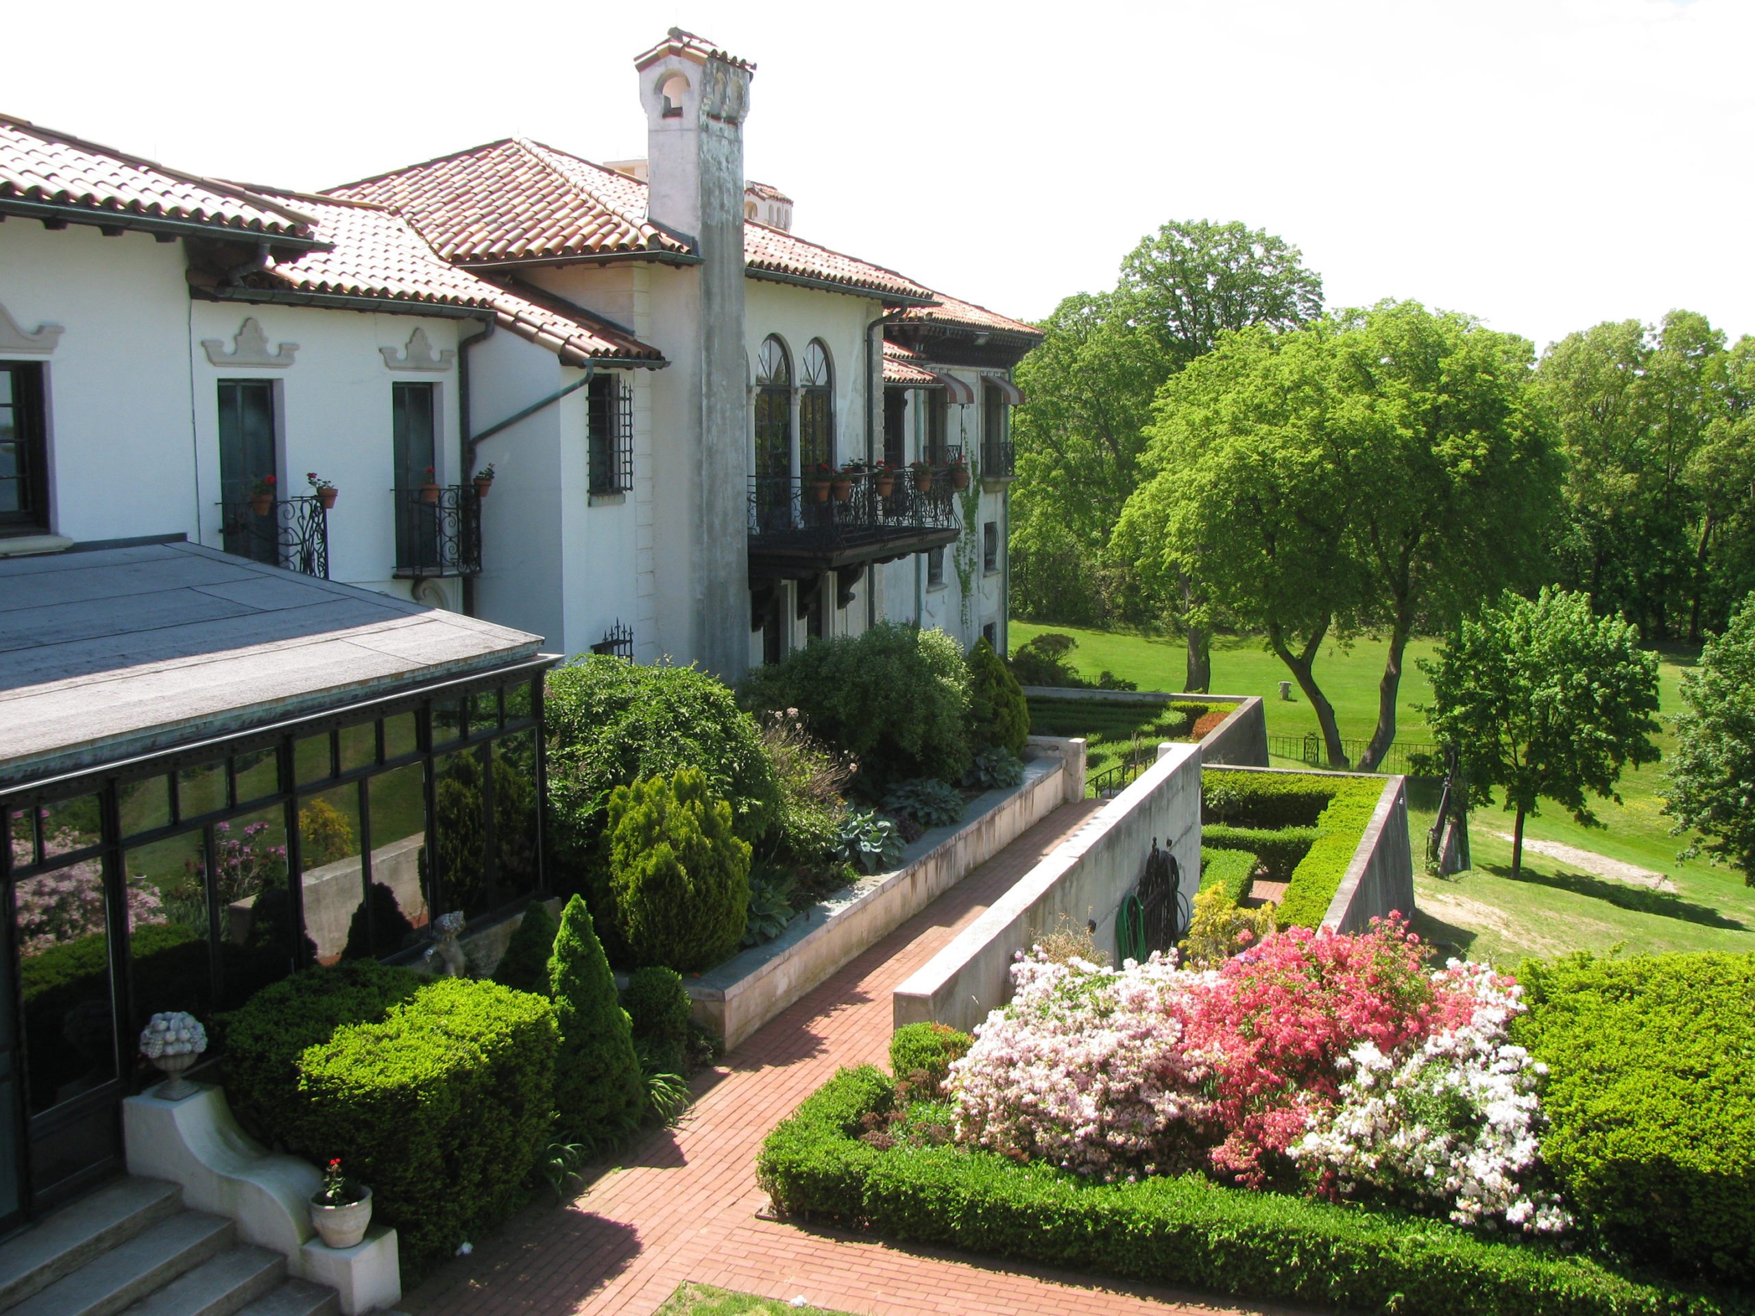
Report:
M284 195L309 211L326 251L270 261L247 288L311 297L369 297L491 311L500 328L548 347L569 365L590 360L663 363L663 353L588 311L528 288L502 288L433 254L393 211L365 202ZM244 293L247 298L247 293Z

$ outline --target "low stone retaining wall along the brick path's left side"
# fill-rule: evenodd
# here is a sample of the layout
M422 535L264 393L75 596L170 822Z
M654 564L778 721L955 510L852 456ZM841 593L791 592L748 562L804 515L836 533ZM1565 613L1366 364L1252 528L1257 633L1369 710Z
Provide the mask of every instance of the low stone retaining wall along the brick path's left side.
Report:
M737 1046L1058 809L1065 800L1064 772L1058 755L1025 763L1023 784L978 797L958 826L928 830L904 851L895 872L837 891L774 941L686 979L695 1021Z

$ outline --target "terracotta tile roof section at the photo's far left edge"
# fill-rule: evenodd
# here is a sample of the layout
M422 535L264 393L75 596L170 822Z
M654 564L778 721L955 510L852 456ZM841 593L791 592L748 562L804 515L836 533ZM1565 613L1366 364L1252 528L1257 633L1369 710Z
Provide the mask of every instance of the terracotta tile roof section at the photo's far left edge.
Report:
M311 237L298 211L244 188L165 168L107 146L0 114L0 209L53 207L70 223L151 221L230 228L291 242ZM26 209L28 207L28 209ZM90 219L86 219L90 216Z

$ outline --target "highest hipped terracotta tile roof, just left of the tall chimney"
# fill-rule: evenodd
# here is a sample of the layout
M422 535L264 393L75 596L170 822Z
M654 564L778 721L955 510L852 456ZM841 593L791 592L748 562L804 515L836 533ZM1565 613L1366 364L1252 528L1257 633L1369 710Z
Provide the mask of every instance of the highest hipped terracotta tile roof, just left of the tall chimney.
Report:
M325 193L400 211L456 265L688 253L686 242L646 223L644 184L523 139L488 142Z

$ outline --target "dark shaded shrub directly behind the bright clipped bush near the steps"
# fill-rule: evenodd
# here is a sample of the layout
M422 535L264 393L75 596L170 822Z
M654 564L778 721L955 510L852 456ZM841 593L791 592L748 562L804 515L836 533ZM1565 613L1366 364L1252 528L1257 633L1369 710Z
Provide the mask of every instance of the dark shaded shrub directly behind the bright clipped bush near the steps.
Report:
M298 1091L298 1056L328 1042L337 1028L383 1021L425 981L411 969L349 960L333 969L305 969L221 1014L216 1025L232 1111L267 1139L316 1156L302 1141L307 1104Z

